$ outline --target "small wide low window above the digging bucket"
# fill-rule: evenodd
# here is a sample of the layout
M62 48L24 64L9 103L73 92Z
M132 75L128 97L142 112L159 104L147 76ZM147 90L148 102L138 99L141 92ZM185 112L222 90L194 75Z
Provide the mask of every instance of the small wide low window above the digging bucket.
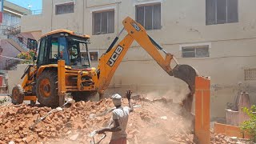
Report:
M182 47L182 58L203 58L209 55L208 45Z

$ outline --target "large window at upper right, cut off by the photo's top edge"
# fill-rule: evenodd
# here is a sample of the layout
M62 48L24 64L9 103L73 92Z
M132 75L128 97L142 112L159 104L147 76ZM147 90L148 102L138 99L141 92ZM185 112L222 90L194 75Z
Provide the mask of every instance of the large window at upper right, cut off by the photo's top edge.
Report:
M206 25L238 22L238 0L206 0Z

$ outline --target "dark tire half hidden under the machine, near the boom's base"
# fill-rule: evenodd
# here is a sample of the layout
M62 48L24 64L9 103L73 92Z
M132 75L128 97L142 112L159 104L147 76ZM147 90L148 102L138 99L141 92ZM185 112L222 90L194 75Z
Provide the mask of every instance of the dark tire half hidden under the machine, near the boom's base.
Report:
M97 94L97 92L90 92L90 91L76 91L72 92L71 95L75 102L79 101L89 101Z

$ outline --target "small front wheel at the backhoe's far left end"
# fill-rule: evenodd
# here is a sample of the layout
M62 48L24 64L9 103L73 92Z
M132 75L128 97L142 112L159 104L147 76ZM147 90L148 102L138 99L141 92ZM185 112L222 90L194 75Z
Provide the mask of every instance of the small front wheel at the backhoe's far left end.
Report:
M14 86L11 94L11 102L14 105L21 104L24 101L24 92L22 86Z

